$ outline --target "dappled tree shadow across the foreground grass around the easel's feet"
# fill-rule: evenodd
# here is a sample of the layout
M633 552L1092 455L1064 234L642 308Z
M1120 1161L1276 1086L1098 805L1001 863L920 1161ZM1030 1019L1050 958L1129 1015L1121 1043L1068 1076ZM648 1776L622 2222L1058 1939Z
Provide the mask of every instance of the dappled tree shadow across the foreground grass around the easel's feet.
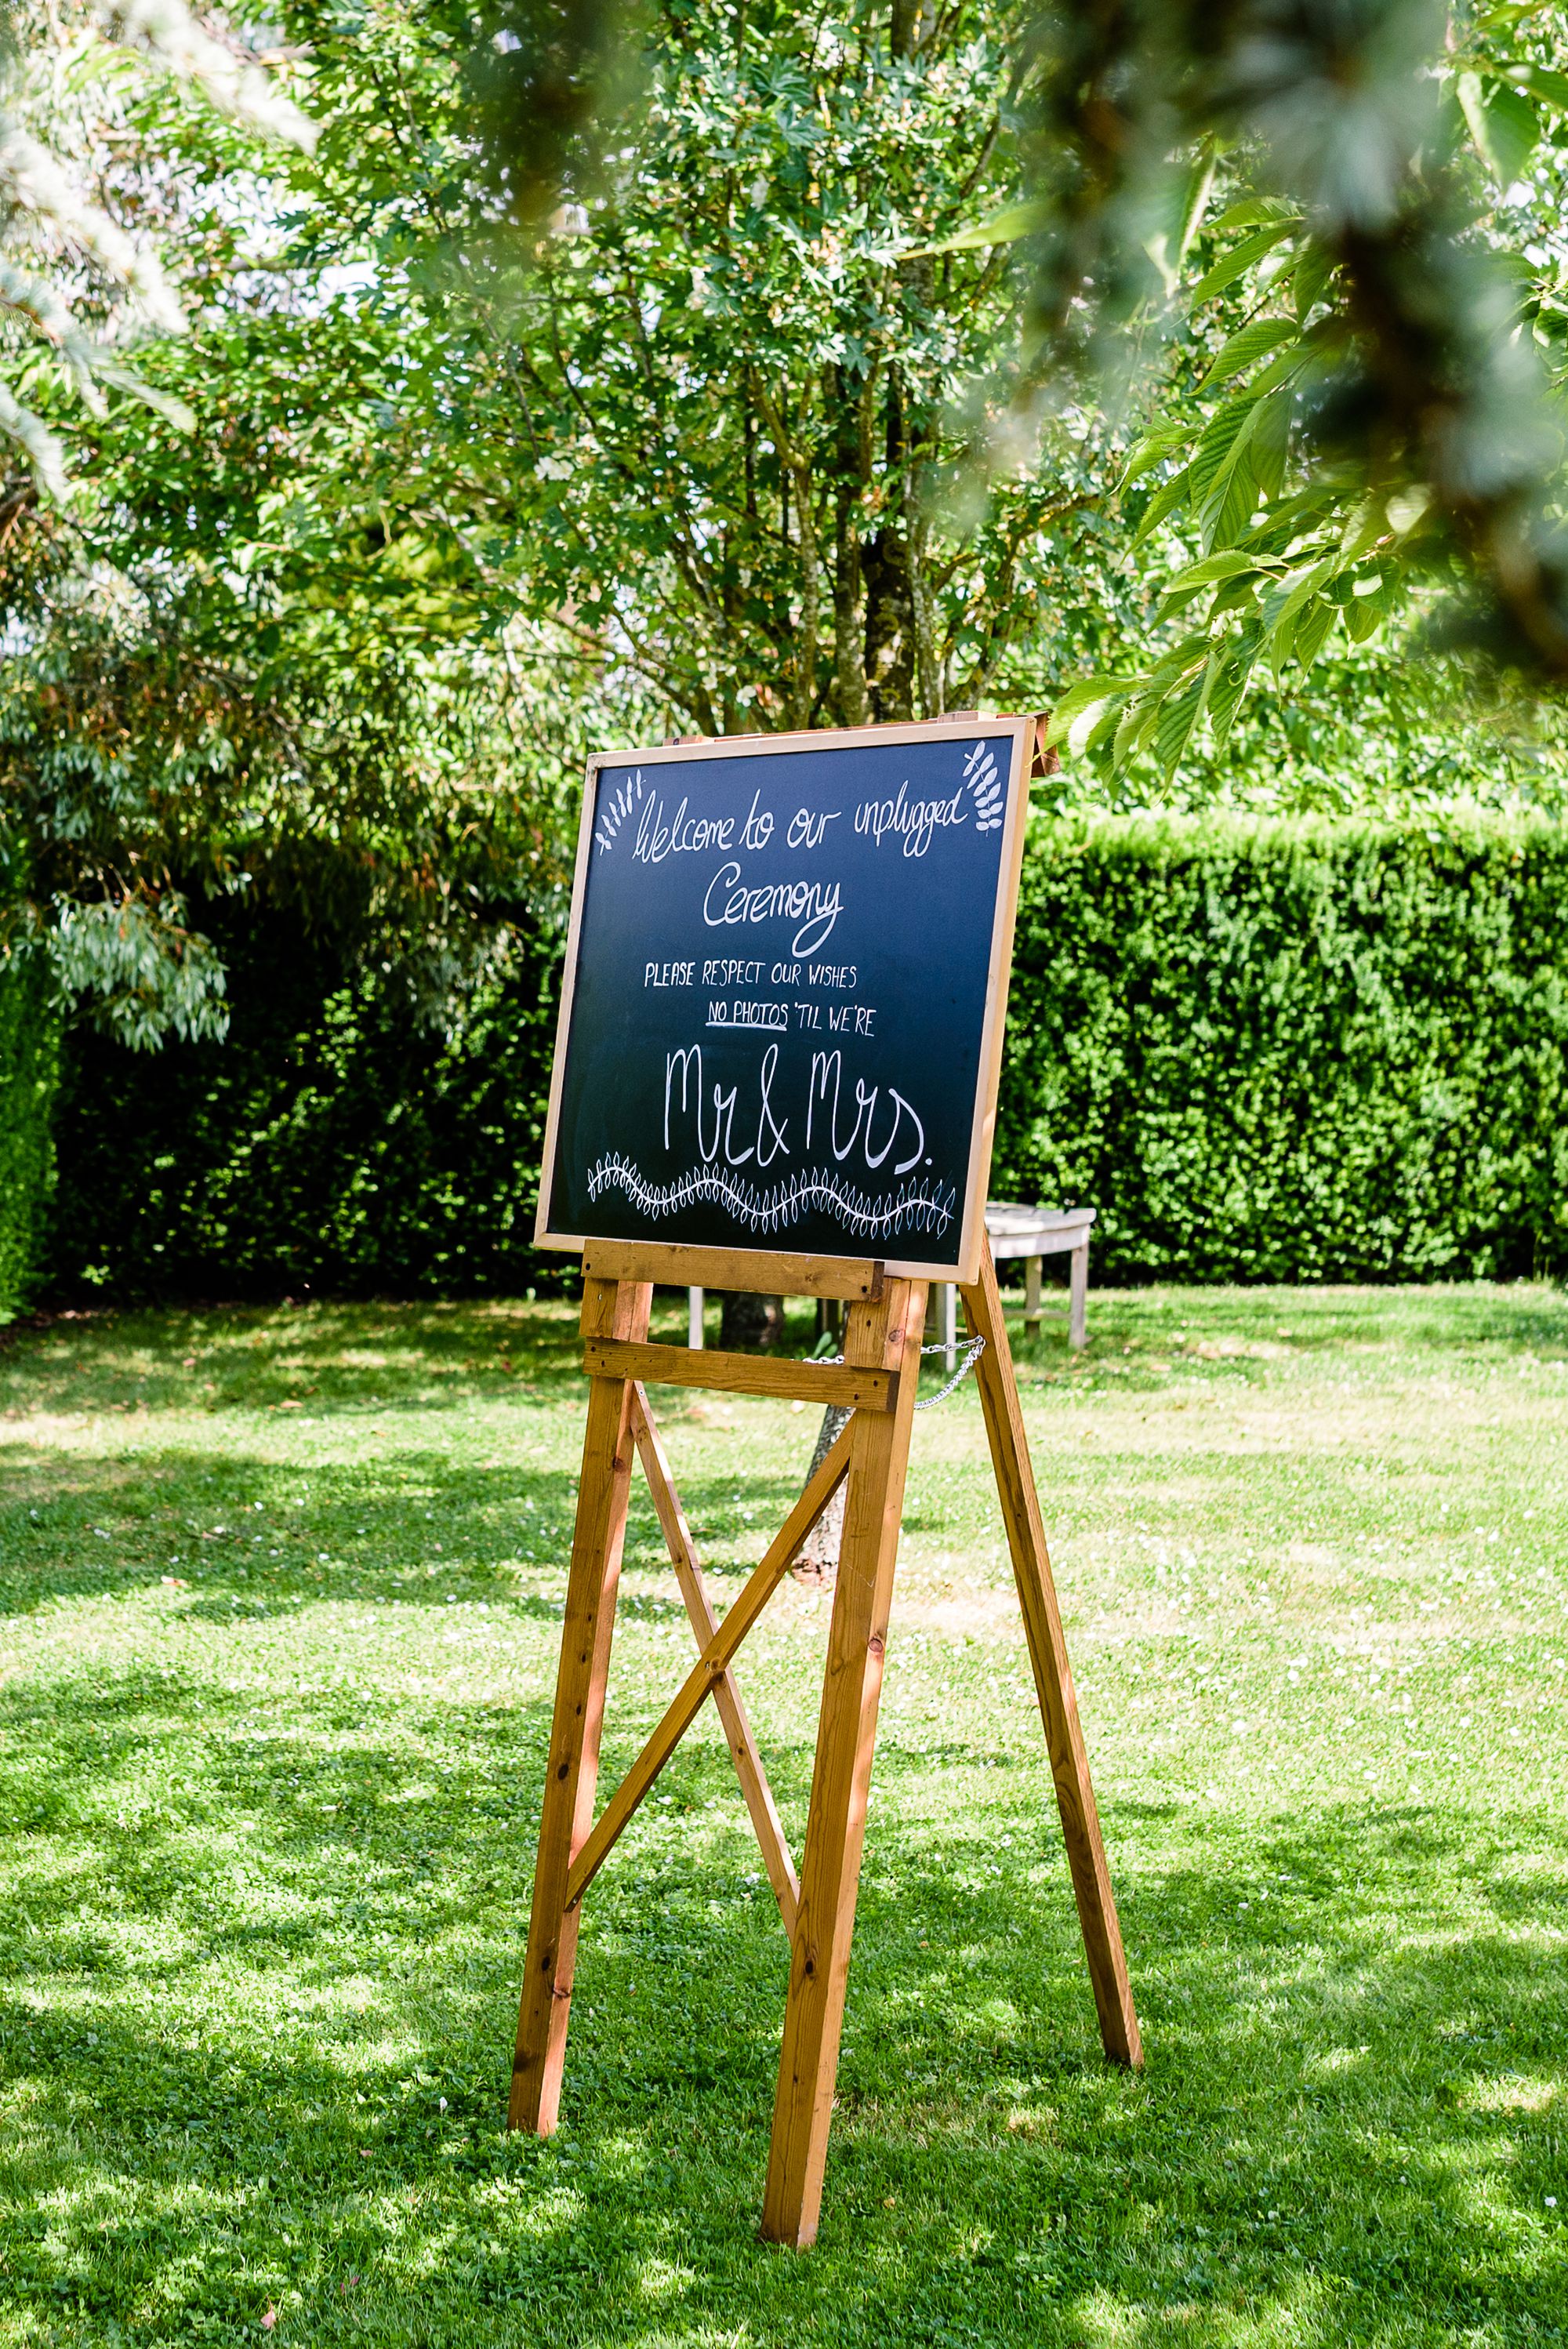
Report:
M1507 1823L1115 1811L1143 2079L1101 2062L1028 1799L986 1773L946 1832L873 1820L796 2262L753 2241L786 1950L723 1750L678 1752L589 1896L538 2145L500 2114L547 1708L209 1698L176 1734L178 1698L148 1672L0 1712L35 1757L5 1792L0 2250L38 2340L249 2337L268 2304L284 2340L430 2344L1561 2326L1556 1818L1526 1900ZM796 1804L810 1755L770 1766ZM930 1769L890 1743L878 1783Z

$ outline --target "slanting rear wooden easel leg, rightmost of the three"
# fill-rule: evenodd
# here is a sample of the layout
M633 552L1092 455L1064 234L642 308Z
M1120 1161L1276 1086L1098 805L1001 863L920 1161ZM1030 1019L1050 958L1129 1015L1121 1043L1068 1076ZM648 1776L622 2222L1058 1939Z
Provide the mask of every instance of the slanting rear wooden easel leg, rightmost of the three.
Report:
M1077 1896L1077 1921L1084 1936L1101 2039L1113 2062L1138 2067L1143 2062L1138 2015L1127 1983L1122 1926L1110 1891L1106 1842L1094 1806L1094 1785L1089 1783L1089 1752L1077 1719L1077 1696L1073 1694L1073 1665L1068 1663L1068 1642L1061 1630L1040 1496L1028 1463L1019 1386L1012 1369L1012 1353L1007 1351L1002 1299L998 1297L995 1264L988 1247L981 1257L979 1283L965 1290L962 1299L972 1332L986 1339L986 1351L976 1362L976 1379L986 1412L986 1435L991 1438L991 1459L995 1463L995 1487L1007 1522L1012 1571L1023 1607L1028 1656L1035 1668L1045 1741L1052 1755L1061 1837L1068 1846L1068 1867L1073 1870L1073 1893Z

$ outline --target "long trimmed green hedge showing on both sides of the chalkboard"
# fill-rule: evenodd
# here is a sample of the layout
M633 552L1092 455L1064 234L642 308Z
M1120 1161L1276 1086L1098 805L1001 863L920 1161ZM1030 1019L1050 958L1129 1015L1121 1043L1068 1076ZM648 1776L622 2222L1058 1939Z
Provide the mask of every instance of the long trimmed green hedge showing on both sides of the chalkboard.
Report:
M528 1247L552 944L453 1036L277 921L221 944L225 1045L70 1045L56 1292L559 1278ZM1566 1095L1554 824L1035 824L991 1189L1099 1207L1099 1278L1561 1271Z

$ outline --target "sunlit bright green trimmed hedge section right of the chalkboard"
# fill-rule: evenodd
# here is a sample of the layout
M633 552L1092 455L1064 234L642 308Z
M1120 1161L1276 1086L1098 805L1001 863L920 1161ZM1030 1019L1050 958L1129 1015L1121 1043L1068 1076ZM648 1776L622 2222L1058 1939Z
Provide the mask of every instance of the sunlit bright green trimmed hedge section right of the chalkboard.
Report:
M1122 820L1030 843L993 1193L1115 1278L1568 1261L1568 839Z

